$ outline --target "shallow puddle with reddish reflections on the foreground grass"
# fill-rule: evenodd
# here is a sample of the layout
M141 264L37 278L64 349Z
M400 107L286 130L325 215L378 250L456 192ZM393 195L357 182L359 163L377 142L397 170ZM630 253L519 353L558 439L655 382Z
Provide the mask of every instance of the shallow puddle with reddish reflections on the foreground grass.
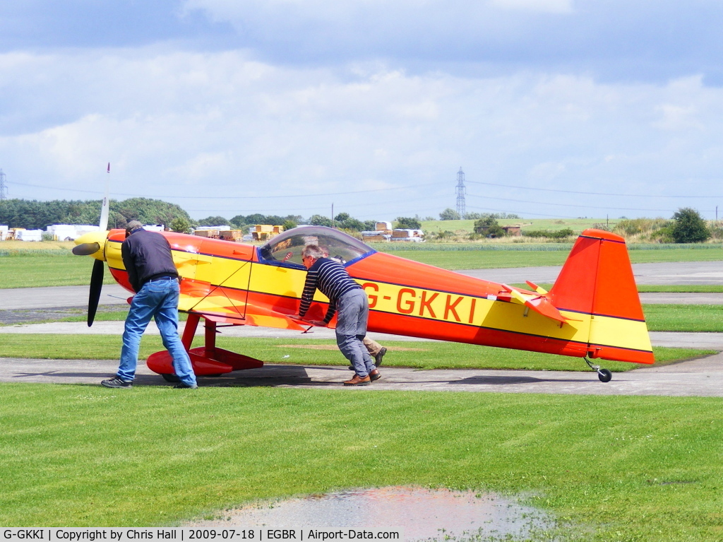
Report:
M474 491L388 487L311 495L228 512L196 527L274 529L402 528L406 541L429 538L529 538L555 525L552 517L511 499ZM304 537L306 540L306 537Z

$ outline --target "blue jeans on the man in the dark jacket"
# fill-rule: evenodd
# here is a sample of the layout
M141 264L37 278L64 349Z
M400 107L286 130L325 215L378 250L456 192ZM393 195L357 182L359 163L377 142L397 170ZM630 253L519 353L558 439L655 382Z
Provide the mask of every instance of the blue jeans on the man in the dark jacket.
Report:
M155 319L158 331L161 331L163 346L174 360L174 370L181 382L192 386L196 384L191 360L179 337L179 282L175 279L162 279L146 282L131 302L123 332L121 363L118 377L132 381L138 365L138 349L143 331L150 318Z

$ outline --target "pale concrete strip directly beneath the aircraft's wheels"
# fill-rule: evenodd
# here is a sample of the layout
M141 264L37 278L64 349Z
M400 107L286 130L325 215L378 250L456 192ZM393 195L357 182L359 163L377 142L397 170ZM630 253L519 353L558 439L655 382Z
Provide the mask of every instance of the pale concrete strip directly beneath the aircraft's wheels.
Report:
M581 363L583 361L581 360ZM43 384L100 384L113 376L117 360L30 360L0 358L1 382ZM613 373L612 381L600 382L596 373L535 370L416 370L382 365L382 378L371 386L348 387L346 366L301 366L268 364L216 378L199 378L204 386L278 386L299 389L344 389L361 393L372 390L398 391L487 391L505 393L663 395L723 397L723 354L664 367L649 367ZM168 386L145 363L139 363L135 386ZM179 391L189 393L189 391ZM132 393L114 390L114 393Z

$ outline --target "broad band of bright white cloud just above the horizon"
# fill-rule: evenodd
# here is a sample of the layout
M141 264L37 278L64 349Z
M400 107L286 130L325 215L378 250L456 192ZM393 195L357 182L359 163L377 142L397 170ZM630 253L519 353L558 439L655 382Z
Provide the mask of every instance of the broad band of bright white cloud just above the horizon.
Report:
M0 55L0 75L0 99L12 103L0 116L0 165L15 197L39 195L13 182L100 190L111 161L118 193L217 196L176 200L197 217L309 216L334 202L359 218L390 219L453 207L459 166L469 181L530 189L676 194L693 178L717 193L723 158L723 90L700 77L666 85L536 72L455 77L158 48ZM610 208L610 216L634 216L612 209L677 208L474 183L469 193L471 211L591 216Z

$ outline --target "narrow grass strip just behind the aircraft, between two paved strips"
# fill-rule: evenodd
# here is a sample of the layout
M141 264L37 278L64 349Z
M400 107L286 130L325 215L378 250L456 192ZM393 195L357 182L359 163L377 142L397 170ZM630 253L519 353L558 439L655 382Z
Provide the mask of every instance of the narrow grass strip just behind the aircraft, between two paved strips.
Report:
M194 346L202 345L197 336ZM221 348L256 357L266 363L294 365L348 365L333 340L270 339L219 336ZM388 354L386 367L420 369L526 369L526 370L589 370L578 357L540 354L505 348L480 347L474 344L433 341L390 341L384 343ZM161 338L143 336L140 359L163 350ZM121 351L119 335L0 334L3 357L26 357L48 360L112 360ZM693 357L714 354L714 350L685 348L654 348L657 364L672 363ZM604 361L612 371L639 367L634 363Z

